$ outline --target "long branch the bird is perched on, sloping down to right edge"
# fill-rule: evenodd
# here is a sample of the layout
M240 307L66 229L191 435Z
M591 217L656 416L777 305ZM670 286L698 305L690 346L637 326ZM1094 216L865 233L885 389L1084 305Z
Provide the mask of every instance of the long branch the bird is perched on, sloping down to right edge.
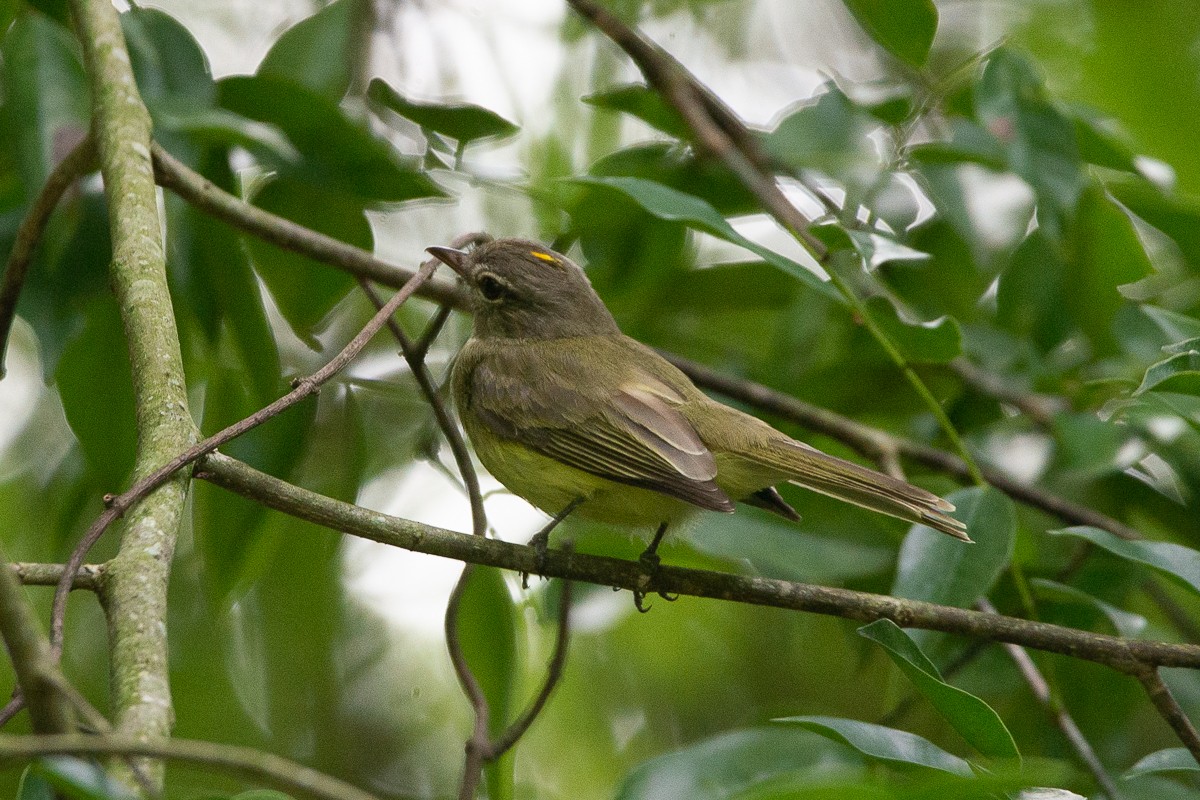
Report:
M864 622L890 619L901 627L955 633L990 642L1010 642L1060 652L1138 674L1146 666L1200 668L1200 645L1122 639L1048 622L986 614L850 589L662 566L653 579L636 561L550 551L542 565L533 547L468 536L390 517L308 492L265 475L233 458L212 453L198 477L263 505L318 525L404 549L486 564L516 572L583 581L638 591L667 591L758 606L790 608Z

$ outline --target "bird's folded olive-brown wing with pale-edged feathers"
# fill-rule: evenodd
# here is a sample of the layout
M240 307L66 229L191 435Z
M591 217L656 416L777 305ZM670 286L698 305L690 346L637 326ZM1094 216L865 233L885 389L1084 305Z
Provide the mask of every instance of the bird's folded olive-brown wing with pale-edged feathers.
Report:
M532 345L530 345L532 347ZM472 410L492 433L575 469L668 494L714 511L733 503L714 482L716 462L691 423L667 399L673 390L625 371L618 385L582 374L586 366L558 363L536 385L486 359L469 379Z

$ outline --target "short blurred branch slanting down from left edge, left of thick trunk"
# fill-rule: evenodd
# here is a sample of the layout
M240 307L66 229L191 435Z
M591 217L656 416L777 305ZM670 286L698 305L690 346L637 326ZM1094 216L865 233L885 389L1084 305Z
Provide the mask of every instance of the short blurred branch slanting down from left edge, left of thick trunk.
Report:
M54 650L37 627L17 575L0 553L0 638L8 649L17 685L37 733L74 730L71 703L60 691L64 682ZM16 698L14 698L16 700Z

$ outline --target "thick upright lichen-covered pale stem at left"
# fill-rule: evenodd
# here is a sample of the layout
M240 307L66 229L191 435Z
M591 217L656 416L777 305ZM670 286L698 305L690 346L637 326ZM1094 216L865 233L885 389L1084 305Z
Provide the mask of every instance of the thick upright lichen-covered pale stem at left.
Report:
M150 114L138 95L110 0L71 0L71 11L91 89L91 132L108 198L110 276L130 349L138 480L186 449L197 433L167 288L150 164ZM173 724L167 584L186 485L187 476L180 475L145 499L131 516L106 577L115 727L139 738L166 738ZM64 573L64 594L72 582L73 570Z

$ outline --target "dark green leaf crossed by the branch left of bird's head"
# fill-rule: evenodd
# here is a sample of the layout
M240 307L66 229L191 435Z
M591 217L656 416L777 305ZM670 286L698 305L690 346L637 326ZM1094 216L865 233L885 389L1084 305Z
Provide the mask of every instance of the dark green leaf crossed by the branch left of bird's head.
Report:
M366 251L374 247L371 223L360 201L329 194L293 180L275 180L254 198L254 205L338 241ZM354 278L328 264L269 245L246 240L254 267L292 330L308 347L319 345L313 329L350 291Z

